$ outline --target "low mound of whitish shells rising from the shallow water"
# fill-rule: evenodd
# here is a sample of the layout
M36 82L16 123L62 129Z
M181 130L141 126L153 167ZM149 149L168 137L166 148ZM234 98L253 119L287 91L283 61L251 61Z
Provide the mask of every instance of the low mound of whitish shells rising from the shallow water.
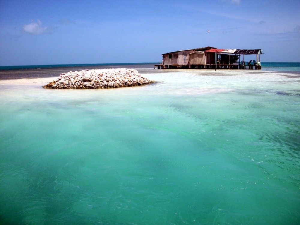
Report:
M62 73L43 88L118 88L154 83L135 69L95 69Z

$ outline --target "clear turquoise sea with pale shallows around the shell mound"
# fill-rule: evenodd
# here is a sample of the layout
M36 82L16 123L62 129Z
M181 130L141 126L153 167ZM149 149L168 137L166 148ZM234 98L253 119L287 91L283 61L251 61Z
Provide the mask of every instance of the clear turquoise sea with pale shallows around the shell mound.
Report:
M114 67L155 83L42 88ZM300 63L0 69L0 224L300 224Z

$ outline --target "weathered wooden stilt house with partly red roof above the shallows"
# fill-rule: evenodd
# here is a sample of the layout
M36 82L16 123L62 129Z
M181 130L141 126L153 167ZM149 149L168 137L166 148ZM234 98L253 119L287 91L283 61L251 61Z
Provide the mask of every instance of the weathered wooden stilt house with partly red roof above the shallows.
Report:
M204 47L162 54L158 69L261 69L261 49L217 49ZM256 55L256 60L244 61L244 55Z

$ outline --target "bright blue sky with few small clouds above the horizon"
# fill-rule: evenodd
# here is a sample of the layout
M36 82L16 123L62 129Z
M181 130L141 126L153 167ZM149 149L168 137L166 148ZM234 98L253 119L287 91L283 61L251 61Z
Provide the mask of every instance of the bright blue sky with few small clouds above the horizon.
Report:
M0 66L158 62L205 46L300 62L299 11L299 0L0 0Z

